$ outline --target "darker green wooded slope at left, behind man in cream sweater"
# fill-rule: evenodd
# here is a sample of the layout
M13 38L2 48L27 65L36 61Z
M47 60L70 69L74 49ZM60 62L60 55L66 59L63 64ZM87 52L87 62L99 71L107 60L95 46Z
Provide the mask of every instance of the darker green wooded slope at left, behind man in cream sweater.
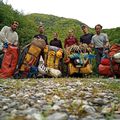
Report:
M35 29L37 29L36 24L29 20L22 13L13 10L10 5L6 5L0 2L0 29L4 25L10 25L12 21L19 21L20 26L17 30L20 39L20 45L23 46L28 44L34 34L36 34Z

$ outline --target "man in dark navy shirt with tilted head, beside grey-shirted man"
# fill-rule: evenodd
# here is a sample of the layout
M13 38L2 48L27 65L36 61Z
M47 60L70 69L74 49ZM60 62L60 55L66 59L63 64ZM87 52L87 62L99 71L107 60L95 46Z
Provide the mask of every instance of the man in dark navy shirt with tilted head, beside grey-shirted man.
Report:
M91 39L92 36L94 35L93 33L89 33L88 26L87 25L82 25L81 29L83 31L83 35L80 36L80 42L85 43L87 45L91 44Z

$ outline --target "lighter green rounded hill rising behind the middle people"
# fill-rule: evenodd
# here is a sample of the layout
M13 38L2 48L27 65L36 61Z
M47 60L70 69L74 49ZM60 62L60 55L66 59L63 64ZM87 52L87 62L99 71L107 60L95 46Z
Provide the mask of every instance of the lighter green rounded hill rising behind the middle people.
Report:
M45 26L45 33L48 36L48 40L52 39L53 32L58 32L59 38L64 41L67 36L68 30L73 29L77 38L80 37L81 30L80 26L83 24L82 22L74 19L68 19L63 17L57 17L53 15L45 15L45 14L30 14L26 16L28 19L34 21L34 23L38 26L40 22L42 22Z

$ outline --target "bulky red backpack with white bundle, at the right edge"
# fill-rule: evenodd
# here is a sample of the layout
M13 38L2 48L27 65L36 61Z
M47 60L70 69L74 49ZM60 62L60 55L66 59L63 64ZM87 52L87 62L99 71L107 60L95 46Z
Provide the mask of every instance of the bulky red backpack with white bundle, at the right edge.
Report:
M99 65L99 73L104 76L120 76L120 44L110 47L108 58L103 58Z

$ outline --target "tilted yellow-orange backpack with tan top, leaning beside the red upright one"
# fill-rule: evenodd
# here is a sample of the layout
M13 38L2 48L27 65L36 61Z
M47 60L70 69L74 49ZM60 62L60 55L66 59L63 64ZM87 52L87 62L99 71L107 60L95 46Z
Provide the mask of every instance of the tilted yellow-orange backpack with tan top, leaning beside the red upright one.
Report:
M28 78L37 75L37 64L45 47L45 41L43 39L34 38L33 41L28 44L22 51L17 71L14 75L15 78Z

